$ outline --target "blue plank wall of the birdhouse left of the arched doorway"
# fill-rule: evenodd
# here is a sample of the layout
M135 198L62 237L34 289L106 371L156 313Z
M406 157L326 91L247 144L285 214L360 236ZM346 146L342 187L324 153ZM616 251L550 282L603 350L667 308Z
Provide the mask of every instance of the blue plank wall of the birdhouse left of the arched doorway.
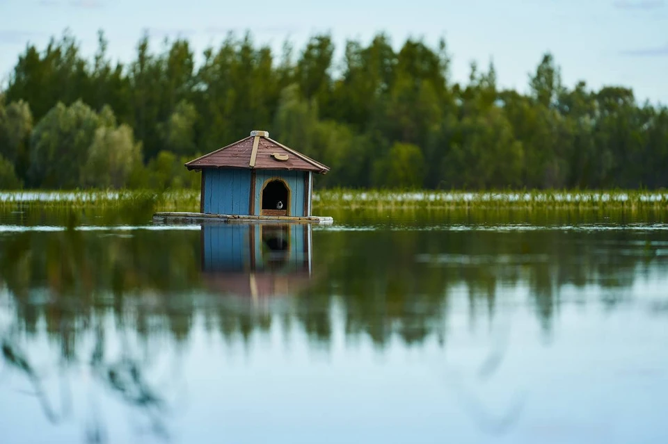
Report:
M250 214L250 170L205 168L204 212Z

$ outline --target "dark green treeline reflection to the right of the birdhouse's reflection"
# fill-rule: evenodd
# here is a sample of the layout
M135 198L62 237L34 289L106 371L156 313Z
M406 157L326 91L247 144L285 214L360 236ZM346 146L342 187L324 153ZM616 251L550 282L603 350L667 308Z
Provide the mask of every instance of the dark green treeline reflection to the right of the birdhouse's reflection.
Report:
M411 343L443 334L438 329L445 328L460 290L476 322L493 316L498 304L511 302L499 298L519 289L549 333L564 288L586 299L585 288L593 286L600 302L614 307L642 270L667 268L656 247L648 250L638 238L633 231L327 233L315 237L314 267L326 268L328 279L303 299L316 304L313 298L341 295L347 332L369 334L379 344L399 334Z

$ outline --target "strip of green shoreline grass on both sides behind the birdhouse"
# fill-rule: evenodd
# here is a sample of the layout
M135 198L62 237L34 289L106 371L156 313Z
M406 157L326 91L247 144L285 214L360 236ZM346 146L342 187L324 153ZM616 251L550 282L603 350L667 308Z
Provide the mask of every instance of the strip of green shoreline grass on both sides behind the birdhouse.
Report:
M29 208L97 208L143 211L199 211L198 190L134 191L24 191L0 192L0 210ZM628 208L668 209L668 190L532 190L532 191L405 191L320 190L313 208Z

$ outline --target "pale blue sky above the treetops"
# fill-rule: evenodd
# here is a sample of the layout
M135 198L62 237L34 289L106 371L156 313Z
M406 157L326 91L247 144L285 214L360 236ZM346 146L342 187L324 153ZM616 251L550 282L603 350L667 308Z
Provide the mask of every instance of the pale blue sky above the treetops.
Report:
M466 81L471 60L486 67L492 58L500 85L525 91L527 73L552 51L567 85L626 85L639 101L668 104L668 0L0 0L0 78L6 81L26 42L43 48L65 28L88 55L102 28L109 54L124 61L145 29L154 49L181 35L198 53L230 30L249 29L276 51L285 38L300 50L321 31L332 33L338 49L377 31L395 47L408 36L429 44L445 36L454 81Z

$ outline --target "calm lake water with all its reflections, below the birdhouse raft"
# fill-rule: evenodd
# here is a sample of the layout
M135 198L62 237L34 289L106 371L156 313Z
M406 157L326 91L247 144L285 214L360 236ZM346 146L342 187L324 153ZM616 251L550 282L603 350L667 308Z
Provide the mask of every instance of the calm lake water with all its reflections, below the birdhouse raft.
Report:
M668 442L666 213L319 213L1 215L0 442Z

